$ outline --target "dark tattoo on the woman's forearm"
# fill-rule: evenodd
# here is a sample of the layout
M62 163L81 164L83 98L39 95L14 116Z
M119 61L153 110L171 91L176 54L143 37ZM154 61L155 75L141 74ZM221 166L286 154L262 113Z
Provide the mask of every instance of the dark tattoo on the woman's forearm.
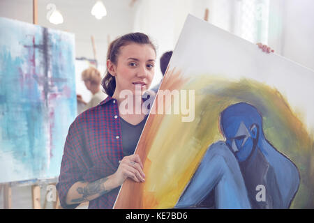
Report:
M107 179L107 177L102 178L100 180L96 180L93 183L87 184L85 187L77 187L76 191L83 196L79 199L73 199L71 202L80 203L83 201L90 201L89 197L93 195L99 194L99 196L101 196L107 192L110 192L110 190L106 190L105 186L103 185Z

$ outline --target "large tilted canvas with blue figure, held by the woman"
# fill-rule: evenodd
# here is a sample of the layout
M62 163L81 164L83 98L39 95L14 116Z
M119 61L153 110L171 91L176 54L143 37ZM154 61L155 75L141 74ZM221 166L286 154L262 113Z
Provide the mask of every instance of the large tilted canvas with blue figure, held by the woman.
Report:
M313 81L188 16L114 208L314 208Z

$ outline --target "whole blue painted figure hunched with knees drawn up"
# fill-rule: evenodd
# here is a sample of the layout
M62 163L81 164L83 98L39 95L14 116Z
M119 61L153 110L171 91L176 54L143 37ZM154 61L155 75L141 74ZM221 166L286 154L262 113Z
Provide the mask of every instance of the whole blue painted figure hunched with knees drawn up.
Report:
M230 105L220 130L225 141L209 146L176 207L290 208L299 170L265 138L260 112L246 102Z

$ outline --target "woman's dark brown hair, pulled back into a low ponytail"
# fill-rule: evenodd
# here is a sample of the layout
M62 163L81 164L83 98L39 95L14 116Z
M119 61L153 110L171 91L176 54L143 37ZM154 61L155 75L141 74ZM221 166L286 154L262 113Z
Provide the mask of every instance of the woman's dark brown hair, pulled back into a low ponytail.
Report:
M153 47L156 53L156 47L154 46L153 43L151 43L151 40L146 34L128 33L124 36L117 38L116 40L113 40L112 43L110 43L110 46L108 47L107 51L107 60L109 59L112 63L114 63L114 65L117 65L118 56L120 54L120 48L131 43L149 44L151 45L151 47ZM114 76L110 74L108 70L105 74L105 77L103 78L101 85L103 86L105 93L112 97L112 95L114 94L114 90L116 89L116 79Z

